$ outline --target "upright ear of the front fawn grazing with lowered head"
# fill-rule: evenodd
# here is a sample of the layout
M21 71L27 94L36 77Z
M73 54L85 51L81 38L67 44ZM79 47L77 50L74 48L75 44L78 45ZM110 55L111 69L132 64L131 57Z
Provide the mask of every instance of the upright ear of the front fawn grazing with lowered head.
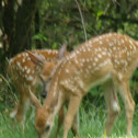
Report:
M33 92L31 92L30 90L30 100L31 100L31 103L37 108L42 107L42 104L41 102L38 101L38 99L34 95Z

